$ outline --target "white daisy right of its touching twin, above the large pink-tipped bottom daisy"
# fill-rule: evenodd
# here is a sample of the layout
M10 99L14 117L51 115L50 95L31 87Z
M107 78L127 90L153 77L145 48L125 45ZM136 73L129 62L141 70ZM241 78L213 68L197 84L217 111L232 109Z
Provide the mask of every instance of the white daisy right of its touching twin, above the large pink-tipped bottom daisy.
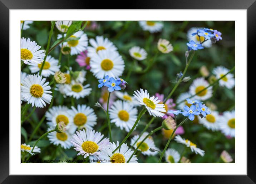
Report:
M78 105L77 109L71 107L72 110L69 110L71 118L73 119L74 125L79 129L90 129L92 130L95 124L97 123L97 116L95 115L92 108L86 105Z

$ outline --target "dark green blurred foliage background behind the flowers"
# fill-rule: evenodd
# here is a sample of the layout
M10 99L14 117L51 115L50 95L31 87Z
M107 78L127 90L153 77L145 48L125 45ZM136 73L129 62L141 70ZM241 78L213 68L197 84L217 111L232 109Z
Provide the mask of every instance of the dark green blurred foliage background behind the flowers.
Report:
M203 50L196 51L195 56L193 57L192 63L190 64L186 76L190 76L191 80L188 82L181 83L177 90L174 92L172 98L174 102L176 101L179 94L187 92L189 86L193 80L197 77L201 77L200 67L205 65L210 73L212 69L216 66L224 66L228 69L231 69L235 66L235 21L163 21L164 27L163 30L159 33L150 34L148 31L143 31L139 26L137 21L97 21L97 29L85 28L85 33L88 35L88 38L95 38L97 35L103 35L112 41L115 46L118 48L118 52L122 55L125 62L125 71L122 78L125 79L129 68L132 67L132 70L140 70L147 67L148 62L152 60L154 55L157 52L157 42L159 38L167 39L171 42L174 47L174 50L168 54L159 54L154 63L154 66L150 68L146 73L136 73L132 72L131 77L129 78L127 91L130 95L133 94L133 91L138 90L139 88L147 89L149 94L152 96L155 93L164 94L165 96L172 90L175 83L172 81L176 79L176 74L184 70L186 65L186 60L184 53L187 50L186 43L187 41L187 31L191 27L209 27L212 29L217 29L222 32L223 40L213 44L211 48L205 48ZM51 23L50 21L34 21L30 25L30 28L23 30L23 37L30 38L32 41L36 41L38 45L42 46L42 49L45 50ZM53 36L51 39L51 45L54 41L57 40L57 35L59 34L56 27L53 31ZM148 53L147 59L138 62L138 66L133 65L133 59L129 55L129 48L132 46L140 46L145 48ZM58 59L60 53L60 47L56 47L50 55ZM77 56L70 57L70 66L74 70L85 70L83 67L79 67L78 63L75 61ZM63 72L65 68L63 67L67 61L67 56L62 56L61 65ZM31 73L28 67L23 69L23 72ZM107 119L103 111L95 107L95 102L99 101L101 90L98 89L98 80L92 75L90 71L87 71L86 75L87 81L85 84L90 83L93 88L92 93L80 99L75 99L75 104L86 104L92 107L98 117L97 125L94 127L96 131L101 130L104 135L107 135L108 129L104 128L107 124ZM206 78L207 80L208 78ZM48 79L50 81L50 79ZM222 113L227 110L232 110L235 108L235 88L228 90L225 87L220 87L218 85L213 87L214 95L212 98L207 99L204 102L212 102L216 104L217 111ZM54 95L54 106L59 105L61 102L61 94L55 91ZM71 101L70 98L65 98L63 105L70 107ZM31 107L30 107L31 108ZM32 108L31 108L32 109ZM30 111L31 111L30 109ZM48 107L45 108L36 108L35 113L31 118L23 123L21 128L21 143L26 142L27 138L30 136L31 132L35 128L36 124L40 121L41 117L48 110ZM140 108L138 108L140 111ZM184 117L180 116L177 119L177 122L181 122ZM136 131L132 135L140 133L144 126L151 119L148 113L146 113ZM156 118L151 124L148 132L152 129L161 125L162 118ZM184 156L189 158L192 163L216 163L219 160L222 150L227 150L235 162L235 139L227 139L220 131L212 132L201 124L192 123L188 121L183 125L185 134L182 137L191 140L196 143L197 146L205 150L206 154L204 157L196 155L191 151L188 151ZM46 132L47 126L46 121L40 127L34 139L39 138L40 135ZM112 137L113 141L117 140L122 141L126 136L127 132L124 130L121 131L118 127L112 124ZM131 138L131 137L130 137ZM155 144L158 148L163 150L166 145L167 140L163 138L162 132L159 131L153 135ZM129 143L129 139L127 140ZM33 142L30 142L30 145L33 145ZM77 152L70 148L68 150L62 149L60 146L56 147L53 144L50 144L47 137L40 140L38 147L41 148L41 153L36 154L33 159L83 159L81 155L77 157ZM171 141L169 145L170 148L178 150L182 154L185 146L175 141ZM154 157L139 155L139 163L157 163L159 155ZM164 159L163 159L164 161Z

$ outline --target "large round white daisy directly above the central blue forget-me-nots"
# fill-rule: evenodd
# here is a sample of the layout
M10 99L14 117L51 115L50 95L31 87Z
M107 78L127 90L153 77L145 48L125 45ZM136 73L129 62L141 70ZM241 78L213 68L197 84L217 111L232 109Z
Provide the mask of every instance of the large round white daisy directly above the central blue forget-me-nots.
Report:
M92 56L90 67L90 71L98 79L106 75L117 78L123 74L124 60L118 52L100 50Z

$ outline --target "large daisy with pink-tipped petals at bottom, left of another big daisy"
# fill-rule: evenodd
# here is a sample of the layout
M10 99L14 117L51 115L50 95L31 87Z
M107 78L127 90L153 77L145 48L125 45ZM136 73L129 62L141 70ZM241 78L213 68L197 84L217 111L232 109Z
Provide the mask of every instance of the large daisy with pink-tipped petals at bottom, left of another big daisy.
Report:
M96 132L94 130L86 130L83 129L76 134L73 134L73 139L71 142L75 146L75 150L79 153L77 155L84 155L84 158L89 155L95 155L96 157L99 155L99 151L102 151L104 147L109 145L109 139L103 138L100 132ZM100 157L101 158L101 157Z

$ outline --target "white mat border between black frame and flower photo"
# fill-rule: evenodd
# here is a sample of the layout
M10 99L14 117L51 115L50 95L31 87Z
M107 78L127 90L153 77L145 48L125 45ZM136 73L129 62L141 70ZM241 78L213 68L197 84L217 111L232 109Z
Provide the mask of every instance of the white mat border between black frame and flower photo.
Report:
M207 15L207 16L200 16ZM235 20L236 163L21 164L20 20ZM139 28L138 28L139 29ZM225 35L223 35L225 38ZM209 49L209 48L207 48ZM247 175L247 10L10 10L10 175ZM225 62L225 61L223 61ZM18 63L18 64L17 64Z

